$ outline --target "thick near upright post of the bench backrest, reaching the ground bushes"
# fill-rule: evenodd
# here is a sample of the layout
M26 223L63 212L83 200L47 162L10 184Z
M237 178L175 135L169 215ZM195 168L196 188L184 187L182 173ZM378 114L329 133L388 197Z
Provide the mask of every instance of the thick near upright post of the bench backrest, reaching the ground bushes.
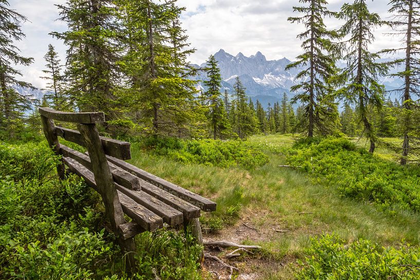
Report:
M121 204L118 199L118 193L115 188L114 179L106 160L105 152L99 138L98 129L95 124L78 124L80 134L83 136L86 150L90 155L92 171L95 176L98 192L102 196L105 206L105 215L111 227L117 236L120 236L119 226L126 223L122 212ZM135 266L136 246L133 238L118 238L121 248L126 253L126 268L132 271Z

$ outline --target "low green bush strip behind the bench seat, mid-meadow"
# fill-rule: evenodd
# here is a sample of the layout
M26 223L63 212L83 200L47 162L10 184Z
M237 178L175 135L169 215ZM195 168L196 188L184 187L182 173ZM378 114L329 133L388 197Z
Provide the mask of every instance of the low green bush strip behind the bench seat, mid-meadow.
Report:
M241 141L230 140L180 140L152 137L143 142L154 153L182 162L211 166L230 167L240 165L251 170L268 162L268 157L254 147L246 147Z

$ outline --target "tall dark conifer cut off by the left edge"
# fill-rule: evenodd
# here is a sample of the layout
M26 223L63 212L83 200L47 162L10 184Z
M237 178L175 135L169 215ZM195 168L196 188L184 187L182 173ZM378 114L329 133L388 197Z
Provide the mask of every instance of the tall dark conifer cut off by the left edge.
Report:
M24 15L9 8L7 0L0 0L0 127L10 132L9 137L13 126L21 123L23 111L31 107L31 96L20 94L12 87L32 87L18 80L22 73L15 68L33 62L33 58L23 57L15 44L25 38L21 23L26 20Z

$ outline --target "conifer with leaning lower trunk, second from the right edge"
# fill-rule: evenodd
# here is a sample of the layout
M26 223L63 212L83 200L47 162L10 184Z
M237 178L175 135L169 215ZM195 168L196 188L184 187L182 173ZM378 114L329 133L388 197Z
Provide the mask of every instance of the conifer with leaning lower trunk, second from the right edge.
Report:
M377 13L369 12L364 0L344 4L340 18L346 21L341 27L341 33L349 35L350 39L343 43L343 58L347 61L347 67L341 73L345 86L338 94L357 106L359 121L363 123L364 133L370 140L369 152L373 153L377 139L368 116L369 106L380 108L382 105L384 86L377 80L379 74L387 73L387 67L376 62L380 57L377 53L370 52L368 46L374 40L372 29L380 26L381 20Z

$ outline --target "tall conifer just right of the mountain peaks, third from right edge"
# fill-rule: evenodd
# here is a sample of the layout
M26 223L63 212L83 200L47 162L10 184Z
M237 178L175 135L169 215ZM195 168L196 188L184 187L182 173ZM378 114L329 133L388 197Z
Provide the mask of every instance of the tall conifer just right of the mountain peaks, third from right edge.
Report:
M302 23L306 30L298 35L303 40L304 53L297 57L297 61L286 66L286 70L298 66L307 66L296 79L302 80L298 85L291 87L297 92L293 102L300 101L305 106L305 116L308 118L307 133L314 136L314 129L320 133L328 133L327 115L330 113L330 102L324 100L326 95L332 93L333 88L327 84L330 77L336 73L335 56L332 55L332 42L337 34L326 29L325 16L334 16L328 11L325 0L300 0L308 4L304 7L294 7L295 12L303 13L300 17L289 17L291 23ZM308 77L307 79L304 79Z

